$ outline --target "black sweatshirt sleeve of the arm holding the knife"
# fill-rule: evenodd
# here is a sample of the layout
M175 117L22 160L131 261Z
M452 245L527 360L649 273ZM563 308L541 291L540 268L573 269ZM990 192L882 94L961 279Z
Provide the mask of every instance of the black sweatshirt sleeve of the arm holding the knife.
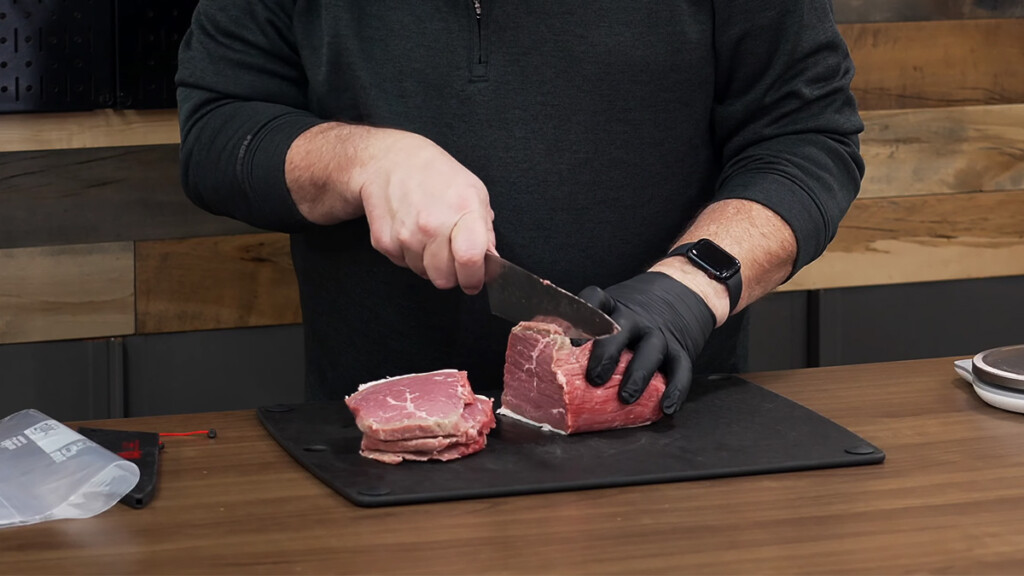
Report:
M181 182L201 208L280 232L311 225L285 180L306 108L294 0L202 0L179 49Z

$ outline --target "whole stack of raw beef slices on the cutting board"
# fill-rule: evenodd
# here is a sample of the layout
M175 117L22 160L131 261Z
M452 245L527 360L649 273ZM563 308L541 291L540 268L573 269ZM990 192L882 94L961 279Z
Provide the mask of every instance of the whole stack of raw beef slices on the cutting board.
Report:
M359 453L388 464L479 452L495 427L490 399L473 394L466 372L459 370L369 382L345 404L362 431Z

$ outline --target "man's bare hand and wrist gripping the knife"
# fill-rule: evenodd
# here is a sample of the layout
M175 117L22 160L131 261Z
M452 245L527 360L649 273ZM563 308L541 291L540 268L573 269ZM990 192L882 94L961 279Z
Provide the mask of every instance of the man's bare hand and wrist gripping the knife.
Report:
M299 136L286 160L289 190L311 222L366 215L374 248L441 289L475 294L495 249L487 189L431 140L333 122Z

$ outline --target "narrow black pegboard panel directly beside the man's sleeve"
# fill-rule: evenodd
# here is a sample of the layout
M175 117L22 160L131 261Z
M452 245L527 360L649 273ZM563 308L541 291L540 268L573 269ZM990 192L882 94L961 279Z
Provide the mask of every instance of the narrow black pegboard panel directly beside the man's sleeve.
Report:
M178 46L198 0L115 0L117 107L174 108Z

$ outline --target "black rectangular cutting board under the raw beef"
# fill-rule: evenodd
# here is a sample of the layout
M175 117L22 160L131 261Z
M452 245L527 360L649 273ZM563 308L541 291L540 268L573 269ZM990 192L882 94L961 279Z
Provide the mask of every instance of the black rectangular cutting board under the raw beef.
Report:
M292 457L360 506L854 466L885 459L882 450L836 422L736 376L696 379L682 410L637 428L563 436L499 415L486 448L449 462L395 465L359 456L361 433L343 403L267 406L258 414Z

